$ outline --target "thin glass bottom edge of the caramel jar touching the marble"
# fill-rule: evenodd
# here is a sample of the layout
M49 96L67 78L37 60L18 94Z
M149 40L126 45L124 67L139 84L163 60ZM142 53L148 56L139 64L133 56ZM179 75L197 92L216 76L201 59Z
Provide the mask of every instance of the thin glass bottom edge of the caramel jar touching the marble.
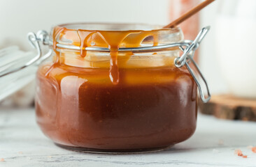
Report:
M140 148L140 149L120 149L120 150L105 150L105 149L94 149L94 148L80 148L80 147L73 147L68 145L61 145L58 143L55 143L60 148L64 148L66 150L71 150L75 152L84 152L84 153L94 153L94 154L139 154L139 153L150 153L150 152L159 152L162 150L167 150L173 145L168 145L165 147L159 147L159 148Z

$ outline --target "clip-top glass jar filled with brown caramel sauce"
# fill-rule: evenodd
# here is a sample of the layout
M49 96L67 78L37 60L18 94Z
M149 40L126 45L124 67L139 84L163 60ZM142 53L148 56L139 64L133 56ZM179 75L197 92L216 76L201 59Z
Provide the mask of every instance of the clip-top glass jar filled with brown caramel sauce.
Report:
M53 51L37 72L36 120L54 143L139 152L192 136L198 83L187 61L176 61L180 49L188 53L193 45L183 42L180 29L63 24L51 34L49 42L42 40Z

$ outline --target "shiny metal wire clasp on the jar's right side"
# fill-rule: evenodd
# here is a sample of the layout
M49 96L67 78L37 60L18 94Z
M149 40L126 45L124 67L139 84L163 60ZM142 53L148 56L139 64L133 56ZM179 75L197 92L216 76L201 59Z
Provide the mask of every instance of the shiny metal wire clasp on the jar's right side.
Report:
M204 39L204 36L209 30L210 30L210 26L206 26L203 29L201 29L201 31L197 35L197 38L195 38L194 41L188 47L186 47L185 49L183 47L180 47L181 51L183 51L183 55L174 60L174 64L176 65L176 67L183 67L183 65L187 67L187 70L190 72L194 81L197 84L201 101L204 103L208 102L211 99L211 93L208 88L206 79L204 78L204 75L201 73L199 66L194 61L193 56L194 56L194 51L196 51L197 47L199 47L201 40ZM197 75L195 74L194 70L192 70L192 68L190 67L190 62L192 62L192 64L194 65L197 74L199 75L199 77L201 77L201 80L204 81L204 84L207 90L207 96L204 95L204 90L201 84L199 83L200 78L197 78Z

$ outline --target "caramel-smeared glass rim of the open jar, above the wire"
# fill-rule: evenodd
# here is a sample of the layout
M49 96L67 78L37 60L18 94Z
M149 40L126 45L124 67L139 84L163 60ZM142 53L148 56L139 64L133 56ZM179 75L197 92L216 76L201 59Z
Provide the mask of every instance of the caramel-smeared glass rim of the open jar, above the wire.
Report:
M94 38L90 38L101 40L101 42L97 43L97 41L92 41L89 45L87 45L87 47L83 47L82 41L84 41L85 39L81 38L81 32L96 32L93 34ZM127 40L128 42L120 42L120 48L122 47L128 50L129 48L138 48L143 46L145 47L145 43L147 44L147 46L151 45L152 47L181 42L183 40L183 32L180 28L162 28L162 26L152 24L82 22L59 24L52 27L50 43L52 43L54 49L60 47L64 49L75 50L85 49L91 51L108 51L110 45L108 44L106 39L104 39L102 33L111 33L111 35L116 35L120 33L128 34L127 36L124 35L125 38L122 39L127 40L126 38L129 38ZM95 38L95 36L97 36L97 38ZM149 38L150 36L152 36L151 39ZM139 41L136 45L134 45L135 38L139 38ZM157 38L157 40L155 40L155 38ZM157 45L155 44L155 41L157 41ZM148 50L150 49L152 48L148 48Z

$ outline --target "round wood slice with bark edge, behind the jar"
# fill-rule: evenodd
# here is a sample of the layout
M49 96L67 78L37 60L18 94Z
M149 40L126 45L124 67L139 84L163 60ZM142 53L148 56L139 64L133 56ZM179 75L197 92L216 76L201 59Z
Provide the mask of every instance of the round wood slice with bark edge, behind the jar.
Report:
M199 110L201 113L227 120L256 121L256 100L232 95L213 95L206 104L199 100Z

